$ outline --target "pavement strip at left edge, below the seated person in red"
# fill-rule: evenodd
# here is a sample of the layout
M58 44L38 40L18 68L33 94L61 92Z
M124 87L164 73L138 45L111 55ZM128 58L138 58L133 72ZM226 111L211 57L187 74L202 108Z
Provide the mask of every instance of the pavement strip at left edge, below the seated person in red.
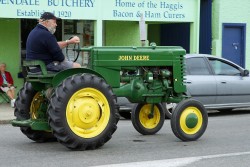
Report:
M13 119L15 119L14 108L10 103L0 103L0 124L9 124Z

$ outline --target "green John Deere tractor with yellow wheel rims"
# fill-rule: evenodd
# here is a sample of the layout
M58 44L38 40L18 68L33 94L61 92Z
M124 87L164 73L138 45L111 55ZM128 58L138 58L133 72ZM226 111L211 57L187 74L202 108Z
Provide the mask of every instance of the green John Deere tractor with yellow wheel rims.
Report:
M117 97L137 103L131 121L143 135L153 135L162 128L164 103L178 103L171 118L176 137L194 141L205 132L205 108L185 95L183 48L70 49L87 56L85 68L54 73L47 71L42 61L23 62L28 75L16 99L12 125L31 140L57 140L72 150L96 149L117 129ZM32 72L34 68L40 71Z

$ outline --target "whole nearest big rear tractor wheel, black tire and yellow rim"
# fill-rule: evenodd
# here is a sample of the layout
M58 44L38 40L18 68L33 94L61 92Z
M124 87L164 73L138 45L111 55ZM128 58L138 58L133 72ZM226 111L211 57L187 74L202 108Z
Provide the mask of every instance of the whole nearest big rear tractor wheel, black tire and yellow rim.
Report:
M48 108L49 123L66 147L96 149L117 129L118 108L116 96L102 78L76 74L55 89Z

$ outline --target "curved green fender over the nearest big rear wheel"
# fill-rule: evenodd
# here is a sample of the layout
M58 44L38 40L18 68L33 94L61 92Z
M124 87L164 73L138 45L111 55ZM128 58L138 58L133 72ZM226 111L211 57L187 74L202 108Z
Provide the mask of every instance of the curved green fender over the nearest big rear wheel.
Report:
M96 75L100 78L103 78L105 80L105 78L99 74L98 72L96 71L93 71L89 68L71 68L71 69L67 69L67 70L64 70L64 71L61 71L59 73L57 73L53 79L52 79L52 85L53 87L57 87L65 78L68 78L72 75L75 75L75 74L84 74L84 73L89 73L89 74L93 74L93 75Z

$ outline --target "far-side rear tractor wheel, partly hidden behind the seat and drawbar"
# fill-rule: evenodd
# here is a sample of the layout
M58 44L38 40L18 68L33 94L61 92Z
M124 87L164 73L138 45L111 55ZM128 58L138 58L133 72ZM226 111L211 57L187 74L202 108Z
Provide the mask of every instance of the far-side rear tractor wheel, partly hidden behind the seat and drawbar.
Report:
M37 118L37 110L42 103L44 103L44 99L40 96L40 92L35 91L32 88L31 83L26 82L24 87L18 93L16 99L16 108L14 111L14 115L17 120L27 120L27 119L36 119ZM45 111L46 112L46 111ZM47 131L37 131L32 130L30 127L20 127L23 134L25 134L29 139L42 143L48 141L56 141L56 138L53 136L51 132Z

